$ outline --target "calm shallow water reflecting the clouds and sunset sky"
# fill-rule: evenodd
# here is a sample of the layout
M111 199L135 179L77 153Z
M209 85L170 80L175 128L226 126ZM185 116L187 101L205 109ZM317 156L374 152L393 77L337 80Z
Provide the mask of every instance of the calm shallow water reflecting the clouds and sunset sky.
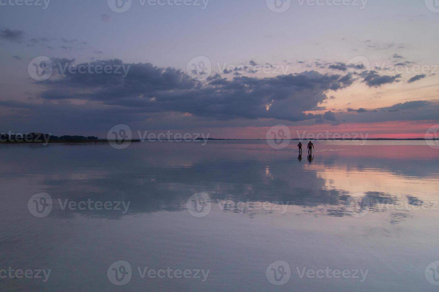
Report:
M439 150L295 144L2 145L0 289L437 291Z

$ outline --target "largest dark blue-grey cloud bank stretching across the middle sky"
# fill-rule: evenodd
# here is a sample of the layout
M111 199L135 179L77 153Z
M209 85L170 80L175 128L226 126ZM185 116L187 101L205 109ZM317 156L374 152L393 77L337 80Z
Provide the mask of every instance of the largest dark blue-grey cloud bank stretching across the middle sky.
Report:
M63 64L71 61L58 59ZM282 77L238 76L232 80L216 74L205 82L198 82L181 70L156 67L151 63L125 64L114 59L97 60L91 65L130 65L130 69L122 78L122 74L71 74L68 71L59 74L58 65L55 65L52 78L37 82L48 88L41 97L46 100L83 99L135 108L142 113L191 113L217 120L273 118L299 121L315 118L304 112L324 102L328 90L348 86L343 82L344 77L338 74L316 71ZM329 112L324 118L334 120L335 116Z

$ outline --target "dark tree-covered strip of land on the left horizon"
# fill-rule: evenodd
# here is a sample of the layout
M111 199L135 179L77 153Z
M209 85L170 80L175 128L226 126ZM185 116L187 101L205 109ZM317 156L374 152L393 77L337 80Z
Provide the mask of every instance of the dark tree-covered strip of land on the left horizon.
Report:
M140 142L140 140L126 140ZM56 144L56 143L108 143L120 142L116 140L99 139L95 136L54 136L44 133L27 133L23 135L0 134L0 144Z

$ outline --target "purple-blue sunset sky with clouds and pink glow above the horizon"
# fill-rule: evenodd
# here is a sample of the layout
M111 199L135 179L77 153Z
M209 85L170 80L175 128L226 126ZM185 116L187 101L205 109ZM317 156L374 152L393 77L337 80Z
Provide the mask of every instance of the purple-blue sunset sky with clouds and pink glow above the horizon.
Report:
M438 0L0 0L0 132L437 136L438 26Z

